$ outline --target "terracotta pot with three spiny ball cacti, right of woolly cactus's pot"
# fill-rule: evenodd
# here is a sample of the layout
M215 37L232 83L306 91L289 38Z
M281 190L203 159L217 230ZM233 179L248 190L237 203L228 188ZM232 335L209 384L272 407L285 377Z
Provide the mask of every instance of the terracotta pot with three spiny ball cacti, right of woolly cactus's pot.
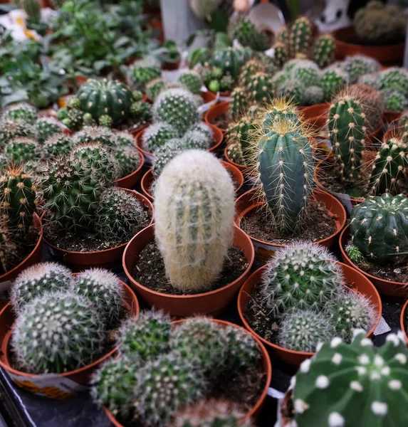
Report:
M360 294L367 297L371 302L372 305L375 307L376 312L376 320L375 325L371 328L371 330L367 333L367 337L370 337L372 333L375 331L375 328L377 327L378 323L381 320L381 312L382 312L382 303L380 295L378 294L375 287L372 285L370 280L365 278L364 275L359 273L354 268L349 267L348 265L345 265L343 263L336 262L338 265L342 267L343 274L345 277L346 283L349 283L352 285L352 289L356 290ZM263 267L258 268L258 270L254 271L246 280L244 283L244 286L239 291L238 295L238 312L239 316L241 317L241 321L244 323L244 326L247 330L251 331L251 333L257 337L268 349L268 352L271 354L276 354L280 359L283 360L283 362L286 362L288 364L293 365L300 365L305 359L309 359L313 356L313 352L296 352L295 350L289 350L284 347L279 346L278 344L273 344L272 342L267 341L260 335L258 335L249 325L249 323L246 321L246 318L244 316L244 312L246 310L246 305L248 304L249 300L251 300L251 292L253 291L253 288L261 282L261 278L263 273L265 272L267 268L267 265L263 265Z

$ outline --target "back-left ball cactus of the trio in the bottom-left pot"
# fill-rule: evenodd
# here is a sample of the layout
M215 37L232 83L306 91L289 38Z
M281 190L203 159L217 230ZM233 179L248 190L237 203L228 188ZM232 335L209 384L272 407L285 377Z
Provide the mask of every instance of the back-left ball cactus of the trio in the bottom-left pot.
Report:
M10 300L15 312L46 293L71 290L72 273L58 263L38 263L23 270L14 280Z

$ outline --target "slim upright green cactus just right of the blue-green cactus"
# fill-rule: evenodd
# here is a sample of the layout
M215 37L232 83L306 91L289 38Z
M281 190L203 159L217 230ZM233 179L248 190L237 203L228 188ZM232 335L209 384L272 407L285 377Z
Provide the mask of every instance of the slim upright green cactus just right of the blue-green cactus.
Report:
M329 110L329 134L343 179L360 179L365 142L365 113L352 93L340 94Z

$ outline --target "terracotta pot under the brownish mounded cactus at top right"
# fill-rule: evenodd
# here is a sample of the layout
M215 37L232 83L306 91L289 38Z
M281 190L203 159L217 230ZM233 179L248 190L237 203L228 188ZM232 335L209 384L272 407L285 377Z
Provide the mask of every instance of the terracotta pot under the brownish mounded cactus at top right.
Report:
M384 46L366 46L350 43L350 40L355 38L353 26L340 28L333 32L333 36L336 43L335 57L337 59L343 59L350 55L366 55L376 59L382 65L402 65L405 43Z

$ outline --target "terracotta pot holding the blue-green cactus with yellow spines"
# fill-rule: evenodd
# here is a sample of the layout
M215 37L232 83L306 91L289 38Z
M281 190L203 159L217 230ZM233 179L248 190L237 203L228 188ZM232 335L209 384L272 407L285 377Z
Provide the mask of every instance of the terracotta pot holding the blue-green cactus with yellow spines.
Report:
M315 189L313 191L313 197L316 201L320 201L325 204L330 216L337 216L337 218L335 219L337 231L331 236L324 238L323 240L314 242L314 244L316 245L319 244L325 246L326 248L331 248L337 242L338 235L340 234L342 228L345 226L345 209L343 208L340 201L338 201L337 199L335 199L335 197L326 193L325 191ZM241 218L251 216L251 214L254 214L256 211L258 211L261 206L263 206L263 202L256 198L256 189L251 189L249 191L246 191L246 193L242 194L242 196L240 196L235 201L236 225L239 226L241 223ZM284 247L284 245L280 245L278 243L261 241L257 238L253 238L251 236L249 237L251 238L251 241L255 248L255 258L262 262L267 262L271 257L273 257L273 255L275 255L276 250Z

